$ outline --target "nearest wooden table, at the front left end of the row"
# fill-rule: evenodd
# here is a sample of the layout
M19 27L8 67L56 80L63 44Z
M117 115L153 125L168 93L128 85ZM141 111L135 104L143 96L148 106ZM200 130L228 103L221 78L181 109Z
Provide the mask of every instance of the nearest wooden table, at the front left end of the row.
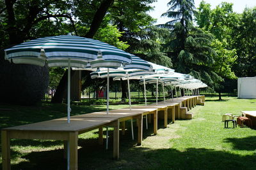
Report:
M77 169L78 135L109 125L114 127L113 157L119 157L119 120L118 118L58 118L35 124L19 125L2 129L3 169L10 169L10 138L15 139L56 139L69 141L70 169Z

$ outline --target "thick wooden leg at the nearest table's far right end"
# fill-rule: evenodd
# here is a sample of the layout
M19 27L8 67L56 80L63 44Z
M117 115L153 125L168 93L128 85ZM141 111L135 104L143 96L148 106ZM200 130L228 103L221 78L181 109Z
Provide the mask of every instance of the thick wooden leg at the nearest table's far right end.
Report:
M113 134L113 158L119 159L119 120L113 122L114 134Z

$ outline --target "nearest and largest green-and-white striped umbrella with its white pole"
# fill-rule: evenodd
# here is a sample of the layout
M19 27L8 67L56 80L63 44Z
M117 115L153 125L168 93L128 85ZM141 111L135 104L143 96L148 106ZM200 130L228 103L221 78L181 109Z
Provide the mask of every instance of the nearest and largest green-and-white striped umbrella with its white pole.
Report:
M70 67L86 67L100 57L115 63L131 62L131 55L102 41L79 36L51 36L33 39L4 50L5 59L15 64L68 67L67 123L70 123ZM69 143L67 143L69 148ZM69 149L67 152L69 169Z

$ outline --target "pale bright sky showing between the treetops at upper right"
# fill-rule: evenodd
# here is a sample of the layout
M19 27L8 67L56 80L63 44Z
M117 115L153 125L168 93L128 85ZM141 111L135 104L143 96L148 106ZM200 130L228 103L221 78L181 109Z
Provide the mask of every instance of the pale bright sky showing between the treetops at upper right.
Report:
M200 2L202 0L194 0L195 1L195 7L198 8ZM225 1L227 3L233 3L233 10L236 13L243 13L244 8L252 8L256 6L255 0L204 0L206 3L211 4L211 8L215 8L218 4ZM156 3L153 3L152 6L155 6L154 11L150 11L150 15L153 18L157 18L156 24L164 24L170 20L170 18L167 17L161 17L162 13L166 12L168 10L167 3L170 2L170 0L158 0Z

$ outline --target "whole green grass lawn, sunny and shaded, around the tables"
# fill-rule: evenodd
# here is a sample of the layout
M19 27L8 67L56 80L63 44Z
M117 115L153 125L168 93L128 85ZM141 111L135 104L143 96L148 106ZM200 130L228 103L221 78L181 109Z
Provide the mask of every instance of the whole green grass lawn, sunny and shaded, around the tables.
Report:
M256 110L256 99L235 97L207 97L205 106L191 110L193 120L177 120L153 135L150 124L143 129L142 146L136 146L136 128L131 139L129 123L125 136L120 134L120 159L113 160L113 143L110 131L109 150L97 143L97 130L79 136L79 169L256 169L256 131L248 127L224 129L223 113ZM111 106L111 109L127 105ZM0 108L1 128L40 122L66 116L64 104L38 106L8 106ZM72 114L106 110L106 106L72 106ZM134 122L135 123L135 122ZM231 124L230 124L231 125ZM135 124L134 124L135 127ZM145 127L145 125L143 126ZM231 127L231 126L230 126ZM20 140L11 141L12 169L65 169L61 141ZM0 160L1 163L1 160ZM0 165L1 166L1 165Z

